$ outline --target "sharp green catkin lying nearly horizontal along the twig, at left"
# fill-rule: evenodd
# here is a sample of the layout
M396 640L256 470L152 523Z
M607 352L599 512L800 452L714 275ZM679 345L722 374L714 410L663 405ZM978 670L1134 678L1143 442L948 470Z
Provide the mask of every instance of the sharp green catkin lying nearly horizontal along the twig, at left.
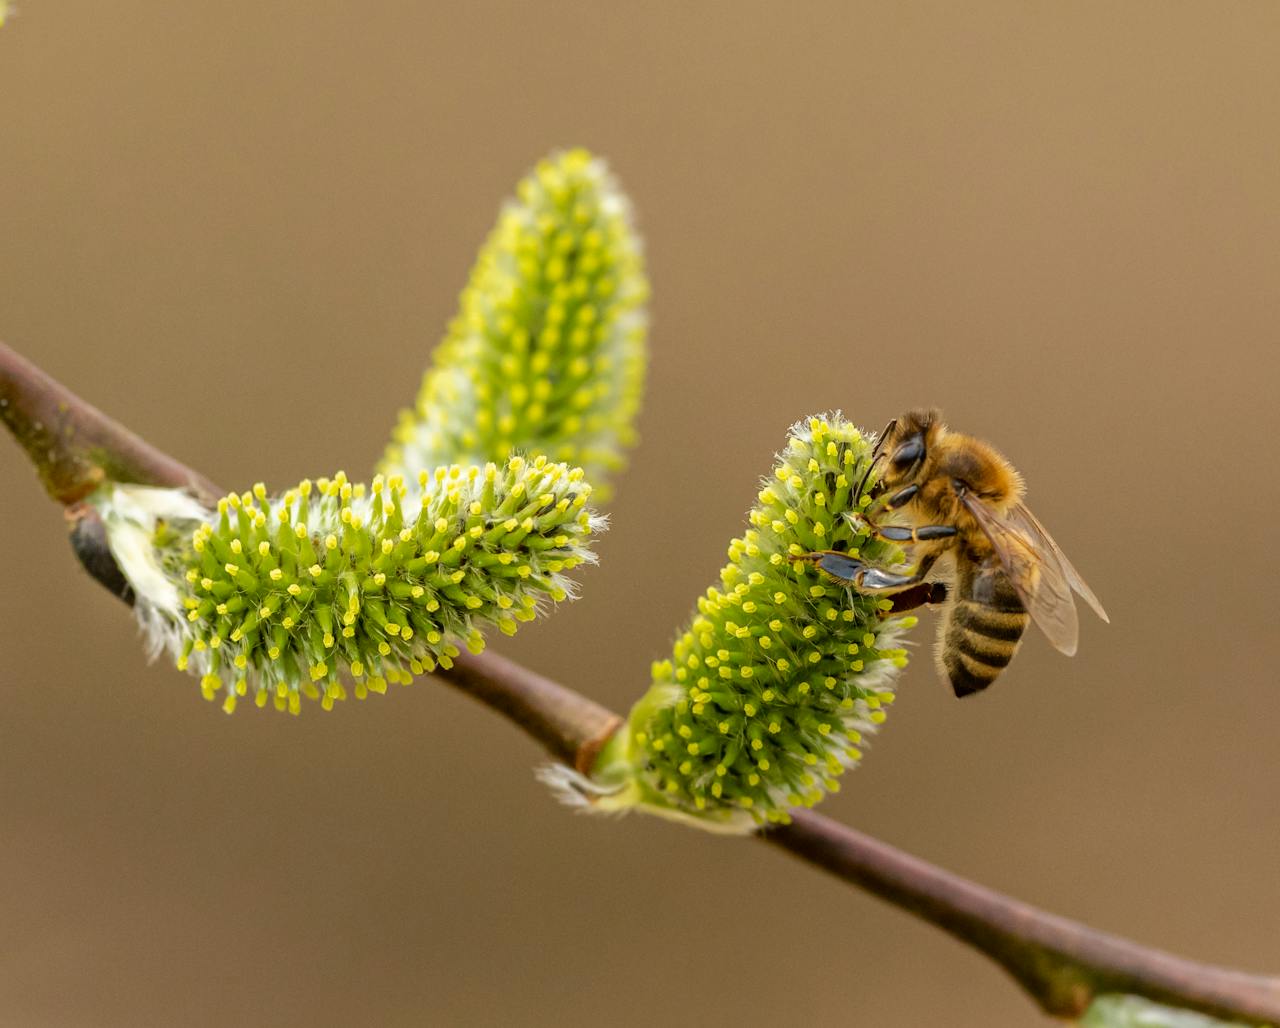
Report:
M449 667L458 644L480 652L481 629L512 634L570 595L566 572L594 561L586 547L602 526L590 492L581 469L544 457L440 467L413 489L378 476L366 490L342 472L279 498L259 484L200 524L156 522L174 609L148 606L143 576L122 566L143 623L160 622L207 699L228 713L246 694L292 713L302 696L329 709L344 682L360 699L408 684Z

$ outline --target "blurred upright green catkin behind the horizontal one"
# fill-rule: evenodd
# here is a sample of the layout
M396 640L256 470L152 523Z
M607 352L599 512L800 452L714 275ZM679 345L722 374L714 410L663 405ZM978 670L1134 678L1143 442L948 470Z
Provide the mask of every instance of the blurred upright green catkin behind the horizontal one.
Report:
M604 499L635 442L649 284L630 204L604 161L554 155L518 186L380 471L544 453Z

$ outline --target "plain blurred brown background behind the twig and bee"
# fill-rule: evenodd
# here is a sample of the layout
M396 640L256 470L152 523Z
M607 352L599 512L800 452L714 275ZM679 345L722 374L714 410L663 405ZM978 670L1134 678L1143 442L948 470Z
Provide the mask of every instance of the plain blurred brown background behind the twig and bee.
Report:
M654 283L584 599L503 652L623 709L786 428L996 440L1112 616L826 813L1280 972L1280 9L42 3L0 31L0 338L228 486L364 474L498 204L607 155ZM758 845L573 817L424 680L224 717L0 440L0 1023L1039 1024Z

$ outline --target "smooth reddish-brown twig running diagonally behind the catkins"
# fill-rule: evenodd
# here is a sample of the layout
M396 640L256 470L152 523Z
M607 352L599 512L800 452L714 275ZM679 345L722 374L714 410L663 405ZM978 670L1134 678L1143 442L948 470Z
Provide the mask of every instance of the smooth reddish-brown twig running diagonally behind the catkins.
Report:
M73 543L88 572L132 599L91 508L104 479L219 490L142 442L0 344L0 412L72 512ZM436 675L513 721L550 754L589 771L622 719L593 700L492 653L460 657ZM1197 964L1038 910L933 867L820 814L758 839L908 910L998 963L1048 1014L1079 1016L1096 996L1135 993L1254 1024L1280 1023L1280 978Z

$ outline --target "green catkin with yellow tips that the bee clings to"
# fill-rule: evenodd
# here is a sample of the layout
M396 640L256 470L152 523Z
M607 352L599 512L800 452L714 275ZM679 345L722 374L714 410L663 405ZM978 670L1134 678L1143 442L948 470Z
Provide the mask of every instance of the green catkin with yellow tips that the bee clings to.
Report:
M698 600L671 659L654 664L653 687L594 780L549 776L562 794L749 831L838 789L893 700L906 664L899 636L915 618L887 617L887 599L787 557L837 549L872 563L901 559L849 516L870 502L852 495L870 448L838 416L791 430L749 530L730 544L719 586Z

